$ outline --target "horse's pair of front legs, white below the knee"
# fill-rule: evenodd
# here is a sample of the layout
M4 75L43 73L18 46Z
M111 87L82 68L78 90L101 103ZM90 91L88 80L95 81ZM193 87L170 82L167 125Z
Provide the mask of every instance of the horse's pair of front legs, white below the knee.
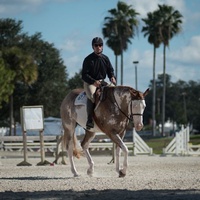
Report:
M125 177L126 176L126 171L127 171L127 167L128 167L128 148L126 147L126 145L124 144L124 142L122 141L122 139L119 137L119 135L111 135L110 136L111 139L113 140L113 142L115 142L117 144L117 148L116 148L116 171L117 173L119 173L119 177ZM120 169L120 163L119 163L119 157L120 157L120 148L123 151L123 155L124 155L124 161L123 161L123 166Z

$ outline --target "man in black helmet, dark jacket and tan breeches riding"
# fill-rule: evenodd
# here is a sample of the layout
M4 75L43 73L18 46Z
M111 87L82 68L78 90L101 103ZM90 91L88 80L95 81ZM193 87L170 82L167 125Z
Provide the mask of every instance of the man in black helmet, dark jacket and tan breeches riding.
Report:
M92 119L94 111L94 93L96 88L101 85L101 80L106 78L116 85L114 69L109 58L103 52L103 40L100 37L95 37L92 40L93 52L89 54L83 61L82 79L84 82L84 90L87 95L87 123L86 128L94 127Z

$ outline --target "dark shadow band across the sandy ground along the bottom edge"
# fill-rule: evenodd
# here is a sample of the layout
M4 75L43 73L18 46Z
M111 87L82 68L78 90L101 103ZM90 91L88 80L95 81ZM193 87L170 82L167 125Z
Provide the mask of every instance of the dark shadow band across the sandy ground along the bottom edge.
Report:
M85 190L0 192L3 200L199 200L199 190Z

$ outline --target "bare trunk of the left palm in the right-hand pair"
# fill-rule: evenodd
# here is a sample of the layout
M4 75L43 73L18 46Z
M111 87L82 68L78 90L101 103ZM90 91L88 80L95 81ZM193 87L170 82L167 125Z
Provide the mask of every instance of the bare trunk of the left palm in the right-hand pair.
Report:
M155 68L156 68L156 47L153 48L153 103L152 103L152 132L153 136L156 135L156 80L155 80Z

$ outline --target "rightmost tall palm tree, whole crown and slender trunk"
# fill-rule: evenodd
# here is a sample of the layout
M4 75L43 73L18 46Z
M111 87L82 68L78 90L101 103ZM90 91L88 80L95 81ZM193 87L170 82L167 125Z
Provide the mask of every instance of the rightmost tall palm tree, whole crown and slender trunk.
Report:
M166 47L169 41L181 31L181 18L183 17L178 10L172 6L158 5L159 35L163 43L163 102L162 102L162 134L164 133L165 123L165 93L166 93Z

